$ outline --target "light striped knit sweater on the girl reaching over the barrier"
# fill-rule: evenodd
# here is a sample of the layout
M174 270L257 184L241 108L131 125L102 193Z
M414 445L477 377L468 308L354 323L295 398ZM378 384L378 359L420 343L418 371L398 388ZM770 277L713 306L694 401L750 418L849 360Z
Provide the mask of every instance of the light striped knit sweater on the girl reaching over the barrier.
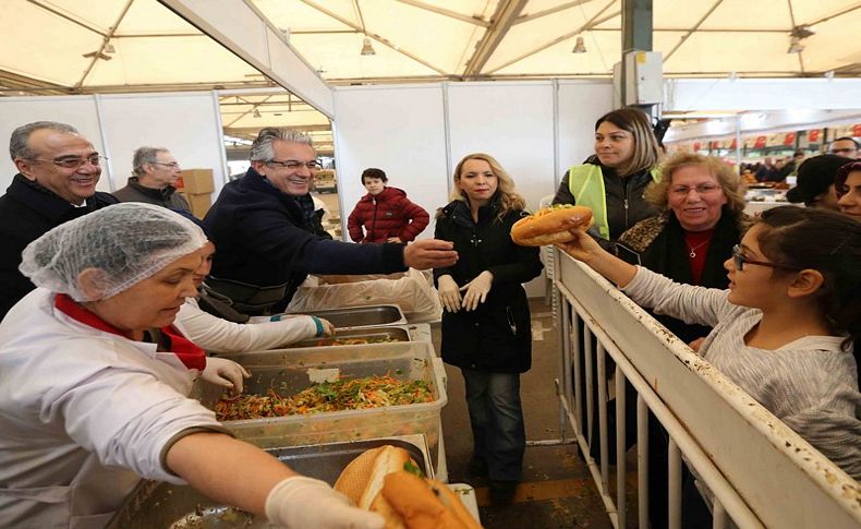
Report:
M727 300L728 290L680 285L638 267L623 289L636 303L688 323L714 326L700 353L786 425L861 480L861 393L841 337L805 336L775 350L744 344L759 309Z

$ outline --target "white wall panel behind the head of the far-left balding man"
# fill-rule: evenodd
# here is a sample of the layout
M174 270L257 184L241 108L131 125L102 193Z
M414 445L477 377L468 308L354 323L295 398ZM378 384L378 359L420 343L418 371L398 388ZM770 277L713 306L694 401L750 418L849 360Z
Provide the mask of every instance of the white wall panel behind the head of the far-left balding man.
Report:
M17 172L9 157L9 139L12 131L34 121L68 123L86 136L96 151L106 153L101 144L96 101L93 96L0 97L0 145L3 147L3 155L0 156L2 159L0 192L2 193L5 193L5 189L12 183L12 177ZM107 168L102 169L97 189L110 191Z

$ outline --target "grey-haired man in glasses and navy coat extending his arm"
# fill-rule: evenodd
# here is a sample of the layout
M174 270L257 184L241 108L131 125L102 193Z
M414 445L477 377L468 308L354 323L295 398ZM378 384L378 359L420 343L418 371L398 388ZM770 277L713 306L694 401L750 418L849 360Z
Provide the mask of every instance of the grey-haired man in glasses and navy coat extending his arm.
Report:
M316 233L308 191L319 168L311 137L264 129L251 168L225 185L204 223L216 248L207 286L250 315L282 312L307 274L388 274L451 266L449 242L352 244Z

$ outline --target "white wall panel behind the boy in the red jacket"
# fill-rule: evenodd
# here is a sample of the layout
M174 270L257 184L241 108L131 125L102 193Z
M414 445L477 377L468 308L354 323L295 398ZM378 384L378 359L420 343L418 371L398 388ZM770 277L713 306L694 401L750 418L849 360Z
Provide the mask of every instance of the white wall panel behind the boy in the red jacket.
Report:
M389 184L432 216L422 238L433 237L433 215L448 197L442 89L421 86L335 88L335 154L341 219L366 193L362 171L377 167ZM349 238L348 238L349 240Z

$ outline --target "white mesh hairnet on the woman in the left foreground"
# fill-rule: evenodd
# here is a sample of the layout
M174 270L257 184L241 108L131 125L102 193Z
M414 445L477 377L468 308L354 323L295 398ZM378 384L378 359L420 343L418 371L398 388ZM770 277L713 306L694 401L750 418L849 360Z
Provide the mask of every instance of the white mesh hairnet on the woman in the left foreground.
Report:
M165 207L125 203L58 226L24 249L19 269L37 286L75 301L110 298L206 243L199 227ZM84 293L78 275L101 270Z

